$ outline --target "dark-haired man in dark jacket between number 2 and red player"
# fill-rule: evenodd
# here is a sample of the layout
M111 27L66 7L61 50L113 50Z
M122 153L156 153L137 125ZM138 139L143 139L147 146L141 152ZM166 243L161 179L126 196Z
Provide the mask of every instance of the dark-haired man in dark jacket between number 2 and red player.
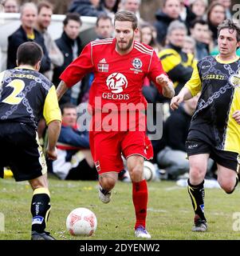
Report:
M81 53L81 39L79 38L81 28L81 18L77 13L67 14L63 21L63 33L61 38L55 42L57 47L61 50L64 56L64 63L62 66L57 66L53 70L53 83L58 85L60 82L60 75L67 66ZM78 96L80 94L81 82L69 89L66 94L61 98L60 104L72 102L77 106Z

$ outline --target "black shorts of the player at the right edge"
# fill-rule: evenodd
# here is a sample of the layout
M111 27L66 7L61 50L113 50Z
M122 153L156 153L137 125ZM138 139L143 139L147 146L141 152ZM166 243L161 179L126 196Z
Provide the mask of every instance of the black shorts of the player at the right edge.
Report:
M195 154L210 154L215 162L220 166L238 172L239 155L232 151L217 150L214 146L210 146L207 142L198 139L187 139L186 141L187 156Z

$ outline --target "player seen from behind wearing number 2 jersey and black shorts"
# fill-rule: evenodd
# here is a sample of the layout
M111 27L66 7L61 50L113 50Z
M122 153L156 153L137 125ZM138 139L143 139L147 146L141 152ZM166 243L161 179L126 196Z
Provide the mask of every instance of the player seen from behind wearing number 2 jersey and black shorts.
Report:
M50 211L45 157L37 138L42 114L49 126L48 157L57 158L55 149L61 129L61 111L55 86L38 73L41 46L26 42L18 47L18 68L0 74L0 177L10 166L15 180L28 180L33 188L31 203L33 240L53 240L45 231Z

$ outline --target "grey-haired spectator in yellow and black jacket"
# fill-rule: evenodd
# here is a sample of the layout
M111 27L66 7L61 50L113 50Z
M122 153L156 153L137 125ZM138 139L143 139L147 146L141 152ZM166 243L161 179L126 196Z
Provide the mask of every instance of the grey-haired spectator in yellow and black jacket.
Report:
M163 70L167 72L174 82L175 94L179 93L184 84L191 78L195 66L194 56L183 52L183 43L187 35L187 28L183 22L171 22L167 29L167 41L165 49L159 52L159 58Z

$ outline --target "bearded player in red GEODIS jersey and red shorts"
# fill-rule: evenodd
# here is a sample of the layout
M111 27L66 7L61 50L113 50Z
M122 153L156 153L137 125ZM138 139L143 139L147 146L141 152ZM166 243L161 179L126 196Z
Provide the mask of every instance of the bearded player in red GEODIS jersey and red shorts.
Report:
M146 130L138 129L138 126L141 128L144 125L145 118L136 119L135 122L131 118L123 122L121 118L126 113L129 118L136 108L140 112L146 110L146 100L141 92L146 76L155 82L159 93L167 98L174 96L174 89L155 50L134 41L138 32L136 15L129 11L117 12L114 27L115 38L90 42L65 69L60 77L57 95L61 98L85 74L94 73L89 93L92 111L89 140L99 174L99 198L104 203L110 201L118 173L124 169L123 155L127 159L132 179L132 200L136 211L135 235L138 238L151 238L145 228L148 186L143 174L144 158L152 158L151 142L146 136ZM102 119L108 120L108 110L113 113L112 130L106 129L108 121Z

